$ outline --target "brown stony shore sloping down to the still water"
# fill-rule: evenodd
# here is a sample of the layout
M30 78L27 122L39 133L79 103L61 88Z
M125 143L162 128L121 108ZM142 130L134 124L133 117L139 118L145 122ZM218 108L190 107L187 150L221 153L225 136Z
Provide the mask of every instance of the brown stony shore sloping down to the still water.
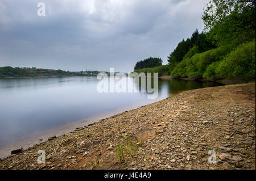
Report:
M136 147L121 162L120 132ZM52 137L2 159L0 169L255 169L255 83L181 92Z

